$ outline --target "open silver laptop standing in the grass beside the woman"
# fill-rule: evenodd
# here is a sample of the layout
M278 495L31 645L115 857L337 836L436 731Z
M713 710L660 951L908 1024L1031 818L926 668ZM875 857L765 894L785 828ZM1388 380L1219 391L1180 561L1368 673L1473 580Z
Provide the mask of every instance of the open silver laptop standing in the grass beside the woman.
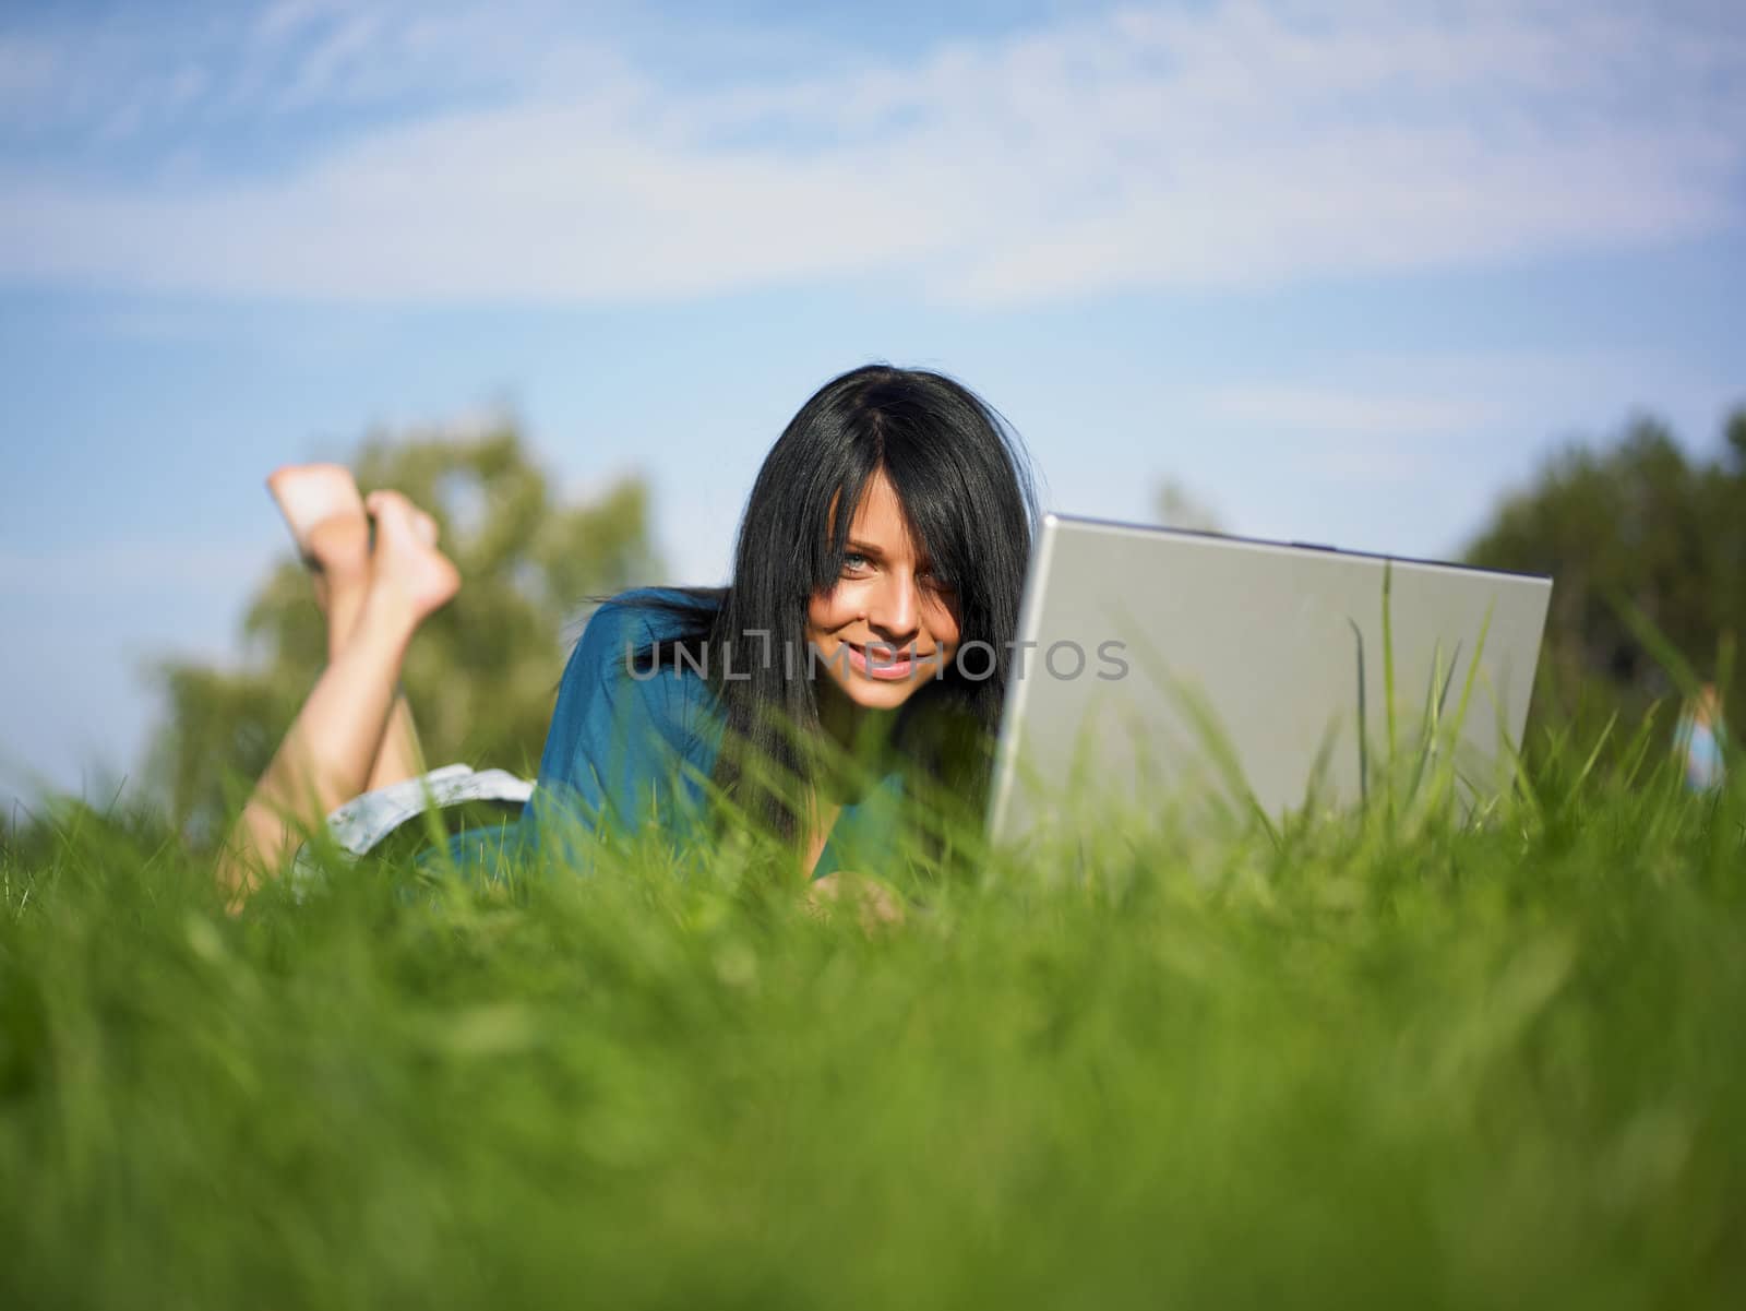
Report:
M1468 801L1495 794L1550 594L1549 578L1046 515L990 836L1179 798L1278 819L1399 794L1440 761Z

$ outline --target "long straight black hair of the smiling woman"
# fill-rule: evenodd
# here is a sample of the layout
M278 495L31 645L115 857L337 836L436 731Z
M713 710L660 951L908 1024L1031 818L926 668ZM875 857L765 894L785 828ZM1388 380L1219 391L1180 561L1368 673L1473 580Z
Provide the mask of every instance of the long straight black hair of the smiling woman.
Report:
M854 511L876 473L890 480L934 574L955 592L962 653L903 705L894 742L952 794L980 803L1037 499L1018 436L969 388L889 365L826 382L758 471L732 583L655 602L684 618L670 651L707 653L704 667L725 721L718 786L787 838L800 822L791 798L754 780L761 768L779 779L810 777L805 742L817 735L819 700L805 658L807 607L814 594L836 585ZM847 511L833 513L835 506ZM800 651L798 667L787 651ZM723 677L728 669L735 677Z

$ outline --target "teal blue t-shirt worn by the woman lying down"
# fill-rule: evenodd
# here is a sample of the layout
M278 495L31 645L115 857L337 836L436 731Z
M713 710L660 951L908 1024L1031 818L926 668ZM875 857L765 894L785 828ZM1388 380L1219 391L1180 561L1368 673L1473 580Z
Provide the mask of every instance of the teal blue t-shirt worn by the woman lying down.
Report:
M533 798L517 822L450 840L461 869L489 876L506 855L527 857L552 843L564 864L588 869L597 843L639 838L650 827L670 843L676 862L707 843L721 705L695 670L670 663L636 670L630 660L684 627L679 616L639 604L662 595L684 601L677 592L625 592L588 620L564 667ZM901 796L903 777L890 772L859 803L845 803L812 876L876 873Z

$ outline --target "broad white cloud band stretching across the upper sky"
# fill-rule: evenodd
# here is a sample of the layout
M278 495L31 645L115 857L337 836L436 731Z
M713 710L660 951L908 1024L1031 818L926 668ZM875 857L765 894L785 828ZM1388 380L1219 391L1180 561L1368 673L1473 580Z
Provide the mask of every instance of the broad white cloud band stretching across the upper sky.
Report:
M430 26L323 31L292 98L353 94L381 44L433 86L454 56ZM269 180L0 173L0 278L340 300L878 278L1011 304L1671 241L1739 220L1746 164L1722 10L1233 0L732 87L557 38L487 54L541 94Z

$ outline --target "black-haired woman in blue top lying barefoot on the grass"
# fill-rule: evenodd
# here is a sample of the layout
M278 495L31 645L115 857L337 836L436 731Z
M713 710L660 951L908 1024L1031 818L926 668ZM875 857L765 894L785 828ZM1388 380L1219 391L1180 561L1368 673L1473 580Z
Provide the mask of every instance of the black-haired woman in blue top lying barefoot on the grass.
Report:
M330 663L262 775L223 876L246 894L299 824L414 777L400 662L459 588L435 524L335 466L269 485L316 567ZM370 550L368 517L375 520ZM705 780L822 878L880 859L897 803L988 784L1035 498L969 389L871 365L794 415L753 485L725 588L641 590L590 618L564 670L529 841L646 824L695 836ZM854 758L871 768L836 768ZM463 838L456 850L466 855Z

